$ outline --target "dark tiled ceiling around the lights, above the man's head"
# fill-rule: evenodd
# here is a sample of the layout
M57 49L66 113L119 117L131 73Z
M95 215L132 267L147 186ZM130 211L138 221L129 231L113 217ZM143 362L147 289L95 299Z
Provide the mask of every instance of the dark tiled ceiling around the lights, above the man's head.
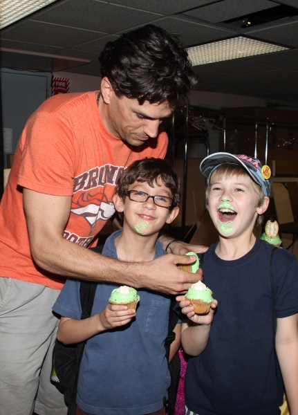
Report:
M89 59L67 71L100 76L106 42L144 24L180 34L185 46L244 34L292 50L196 66L197 89L298 104L298 10L250 28L224 23L282 4L298 9L298 0L60 0L1 30L1 47Z

